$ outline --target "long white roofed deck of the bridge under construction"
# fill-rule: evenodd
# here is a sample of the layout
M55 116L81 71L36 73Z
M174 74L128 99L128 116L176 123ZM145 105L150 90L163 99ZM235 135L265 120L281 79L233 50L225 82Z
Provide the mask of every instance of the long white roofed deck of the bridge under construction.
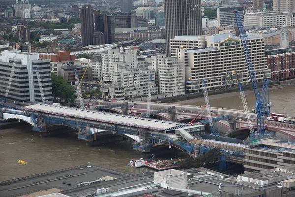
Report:
M52 114L65 117L73 117L77 119L85 119L97 122L109 122L112 124L120 124L130 127L138 127L145 129L152 129L155 131L170 131L187 125L182 123L155 120L143 117L126 116L120 114L112 114L106 112L98 112L92 110L85 110L81 108L54 106L48 104L34 104L23 107L24 111L41 112L45 114Z

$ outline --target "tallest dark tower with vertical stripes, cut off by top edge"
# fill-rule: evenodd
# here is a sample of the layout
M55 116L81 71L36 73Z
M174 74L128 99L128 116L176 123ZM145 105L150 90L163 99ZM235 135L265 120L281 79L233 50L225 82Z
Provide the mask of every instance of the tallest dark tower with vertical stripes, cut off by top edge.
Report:
M177 35L201 35L201 0L164 0L166 54L170 57L170 39Z

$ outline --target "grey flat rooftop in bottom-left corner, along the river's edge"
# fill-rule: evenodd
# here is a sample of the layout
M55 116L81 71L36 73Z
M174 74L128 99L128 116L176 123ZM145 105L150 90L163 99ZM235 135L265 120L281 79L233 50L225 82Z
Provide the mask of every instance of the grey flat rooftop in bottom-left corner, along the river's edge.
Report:
M142 174L141 174L142 176ZM124 172L119 172L116 170L91 165L76 166L62 170L56 170L53 172L46 172L34 176L23 177L19 179L13 179L9 181L0 182L0 197L7 197L12 195L17 195L21 193L28 193L34 191L45 190L49 188L58 188L60 190L74 190L77 184L80 182L90 182L97 181L98 179L103 179L108 181L101 181L90 186L95 186L96 189L100 184L107 183L112 185L112 181L118 181L122 178L134 177L131 174ZM112 180L113 178L113 180ZM128 178L129 180L130 178ZM136 178L135 178L136 179ZM65 184L63 184L65 183ZM68 185L70 184L70 185ZM81 188L87 188L90 186L85 186ZM126 186L127 187L127 186ZM80 188L80 190L81 190ZM64 192L64 191L63 191Z

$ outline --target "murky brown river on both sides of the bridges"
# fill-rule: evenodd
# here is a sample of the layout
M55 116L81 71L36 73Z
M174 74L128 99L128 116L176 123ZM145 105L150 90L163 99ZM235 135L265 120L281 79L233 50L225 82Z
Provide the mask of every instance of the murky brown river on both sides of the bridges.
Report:
M295 116L295 85L277 86L269 91L273 103L272 112ZM255 108L253 91L246 91L249 109ZM212 107L243 109L239 93L210 96ZM205 105L204 98L185 100L183 105ZM218 100L218 101L217 101ZM218 103L218 104L217 104ZM8 133L8 134L7 134ZM172 151L173 152L173 151ZM131 158L140 158L141 154L132 149L131 141L121 141L97 147L87 147L76 135L40 138L31 127L17 127L0 131L0 181L62 169L66 167L96 164L117 170L140 173L145 168L131 168L127 164ZM169 156L167 156L169 157ZM28 164L18 164L25 160Z

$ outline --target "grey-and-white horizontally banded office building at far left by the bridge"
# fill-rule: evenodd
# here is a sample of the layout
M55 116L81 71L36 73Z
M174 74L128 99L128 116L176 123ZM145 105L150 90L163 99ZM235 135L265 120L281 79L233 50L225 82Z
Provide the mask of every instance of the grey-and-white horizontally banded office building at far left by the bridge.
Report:
M0 56L0 95L4 97L9 80L12 60L16 51L5 50ZM46 100L52 100L50 61L39 59L37 54L19 52L16 56L14 78L7 99L19 102L42 102L36 68L40 70L41 83Z

